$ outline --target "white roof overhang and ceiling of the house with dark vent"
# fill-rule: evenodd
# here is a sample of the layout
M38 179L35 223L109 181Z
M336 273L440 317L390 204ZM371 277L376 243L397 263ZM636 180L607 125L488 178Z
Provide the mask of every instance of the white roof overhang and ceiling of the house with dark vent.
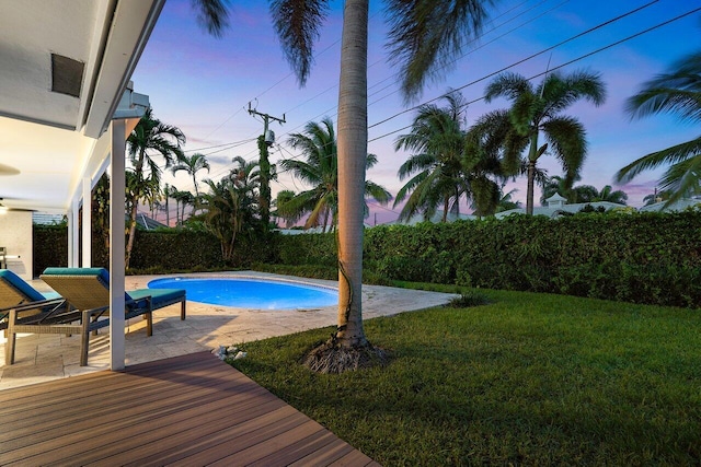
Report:
M0 198L66 212L104 170L113 118L138 121L130 75L165 0L0 3Z

